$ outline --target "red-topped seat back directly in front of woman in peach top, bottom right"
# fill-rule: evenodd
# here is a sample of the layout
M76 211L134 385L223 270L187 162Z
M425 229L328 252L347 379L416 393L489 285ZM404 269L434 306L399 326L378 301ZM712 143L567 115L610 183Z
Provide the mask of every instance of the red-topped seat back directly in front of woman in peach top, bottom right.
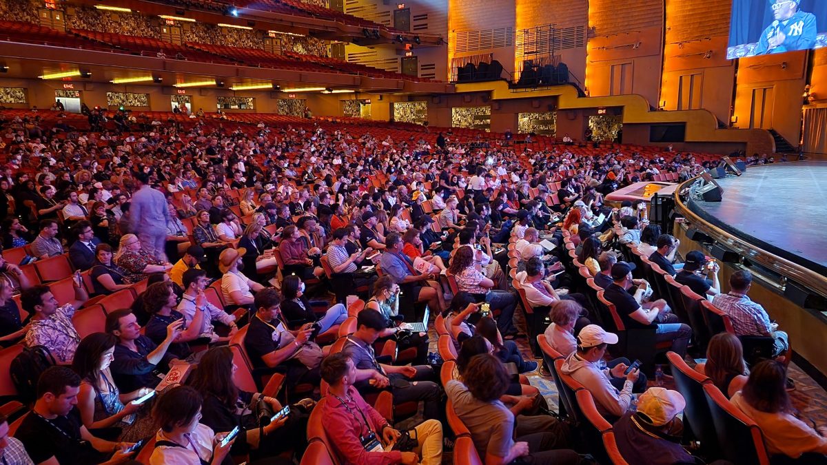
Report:
M768 465L769 455L758 424L732 405L711 383L704 385L704 395L723 458L735 465Z

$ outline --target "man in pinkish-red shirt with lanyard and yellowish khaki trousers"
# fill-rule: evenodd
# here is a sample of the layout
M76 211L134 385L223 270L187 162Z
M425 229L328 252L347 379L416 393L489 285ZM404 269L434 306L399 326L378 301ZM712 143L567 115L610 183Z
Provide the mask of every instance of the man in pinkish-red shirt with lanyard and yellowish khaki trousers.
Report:
M413 451L385 450L399 439L400 432L356 390L354 384L360 372L353 359L343 352L331 354L322 362L322 377L330 386L321 415L322 426L337 457L343 463L440 465L442 424L437 419L425 419L408 432L416 442ZM375 443L365 441L371 435Z

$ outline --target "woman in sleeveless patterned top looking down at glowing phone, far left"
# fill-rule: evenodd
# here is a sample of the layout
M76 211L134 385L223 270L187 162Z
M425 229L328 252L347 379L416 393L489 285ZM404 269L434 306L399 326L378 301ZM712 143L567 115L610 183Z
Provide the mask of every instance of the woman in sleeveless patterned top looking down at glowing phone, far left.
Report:
M108 333L91 333L80 341L72 361L72 369L81 379L78 410L86 428L114 429L118 440L134 443L155 430L150 410L131 402L151 389L118 391L109 370L116 344L117 338Z

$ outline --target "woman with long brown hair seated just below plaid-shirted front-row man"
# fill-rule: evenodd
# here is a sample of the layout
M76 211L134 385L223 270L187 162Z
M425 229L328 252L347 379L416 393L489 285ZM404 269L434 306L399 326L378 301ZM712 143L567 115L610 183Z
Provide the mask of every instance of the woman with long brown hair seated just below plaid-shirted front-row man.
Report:
M706 346L706 362L695 366L697 372L710 377L712 384L727 399L743 389L749 371L743 360L743 346L733 333L717 333Z

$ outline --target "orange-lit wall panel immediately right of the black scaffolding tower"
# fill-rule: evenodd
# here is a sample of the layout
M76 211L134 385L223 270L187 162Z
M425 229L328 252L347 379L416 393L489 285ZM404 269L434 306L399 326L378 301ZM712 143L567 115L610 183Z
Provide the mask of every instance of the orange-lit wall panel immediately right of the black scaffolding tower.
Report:
M657 107L663 0L591 0L586 87L591 96L638 93Z

